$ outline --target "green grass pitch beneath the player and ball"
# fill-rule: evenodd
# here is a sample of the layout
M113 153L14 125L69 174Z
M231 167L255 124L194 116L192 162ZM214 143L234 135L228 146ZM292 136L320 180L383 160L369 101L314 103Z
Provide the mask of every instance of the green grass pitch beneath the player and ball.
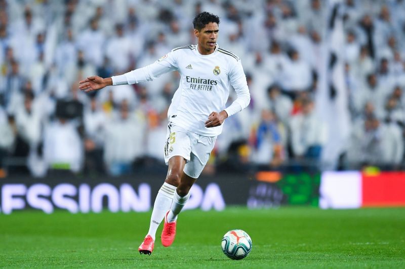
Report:
M0 267L405 268L405 208L185 211L171 247L161 245L159 227L152 255L140 255L149 218L150 212L1 214ZM222 253L231 229L252 237L243 260Z

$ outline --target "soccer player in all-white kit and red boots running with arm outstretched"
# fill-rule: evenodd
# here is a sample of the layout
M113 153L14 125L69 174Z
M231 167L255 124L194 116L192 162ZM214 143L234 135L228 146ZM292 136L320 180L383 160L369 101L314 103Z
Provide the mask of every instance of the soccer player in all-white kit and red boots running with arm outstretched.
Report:
M124 75L93 76L79 82L81 90L92 91L107 85L151 81L174 70L181 75L168 111L168 138L164 147L168 174L157 193L149 231L138 248L141 254L152 253L156 230L163 219L161 243L166 247L173 243L177 216L207 164L222 124L249 105L250 94L240 59L217 44L218 25L218 16L199 13L193 20L196 45L174 48L155 63ZM225 108L230 86L237 98Z

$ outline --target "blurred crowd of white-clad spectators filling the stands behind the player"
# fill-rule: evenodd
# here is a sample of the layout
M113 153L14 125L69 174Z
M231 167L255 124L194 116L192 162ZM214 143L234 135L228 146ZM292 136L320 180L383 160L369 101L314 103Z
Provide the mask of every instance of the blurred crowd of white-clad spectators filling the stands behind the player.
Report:
M163 165L179 74L78 90L196 43L201 11L242 61L251 104L226 120L206 168L322 164L333 143L316 97L331 2L344 23L350 135L336 169L404 168L405 1L0 0L0 177L50 169L122 175ZM229 103L235 98L231 93Z

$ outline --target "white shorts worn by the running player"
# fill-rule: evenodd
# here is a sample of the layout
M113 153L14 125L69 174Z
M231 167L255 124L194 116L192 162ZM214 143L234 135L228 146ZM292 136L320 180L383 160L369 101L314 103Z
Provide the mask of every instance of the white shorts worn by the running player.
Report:
M187 131L169 122L167 141L165 144L165 162L173 156L186 159L184 173L191 178L198 178L214 148L216 136L203 136Z

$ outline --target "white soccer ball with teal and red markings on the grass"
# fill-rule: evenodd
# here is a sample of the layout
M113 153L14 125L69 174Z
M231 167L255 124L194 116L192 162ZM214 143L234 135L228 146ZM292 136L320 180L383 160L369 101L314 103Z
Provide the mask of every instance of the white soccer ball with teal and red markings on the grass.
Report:
M252 239L242 230L231 230L222 238L222 251L231 259L243 259L252 250Z

